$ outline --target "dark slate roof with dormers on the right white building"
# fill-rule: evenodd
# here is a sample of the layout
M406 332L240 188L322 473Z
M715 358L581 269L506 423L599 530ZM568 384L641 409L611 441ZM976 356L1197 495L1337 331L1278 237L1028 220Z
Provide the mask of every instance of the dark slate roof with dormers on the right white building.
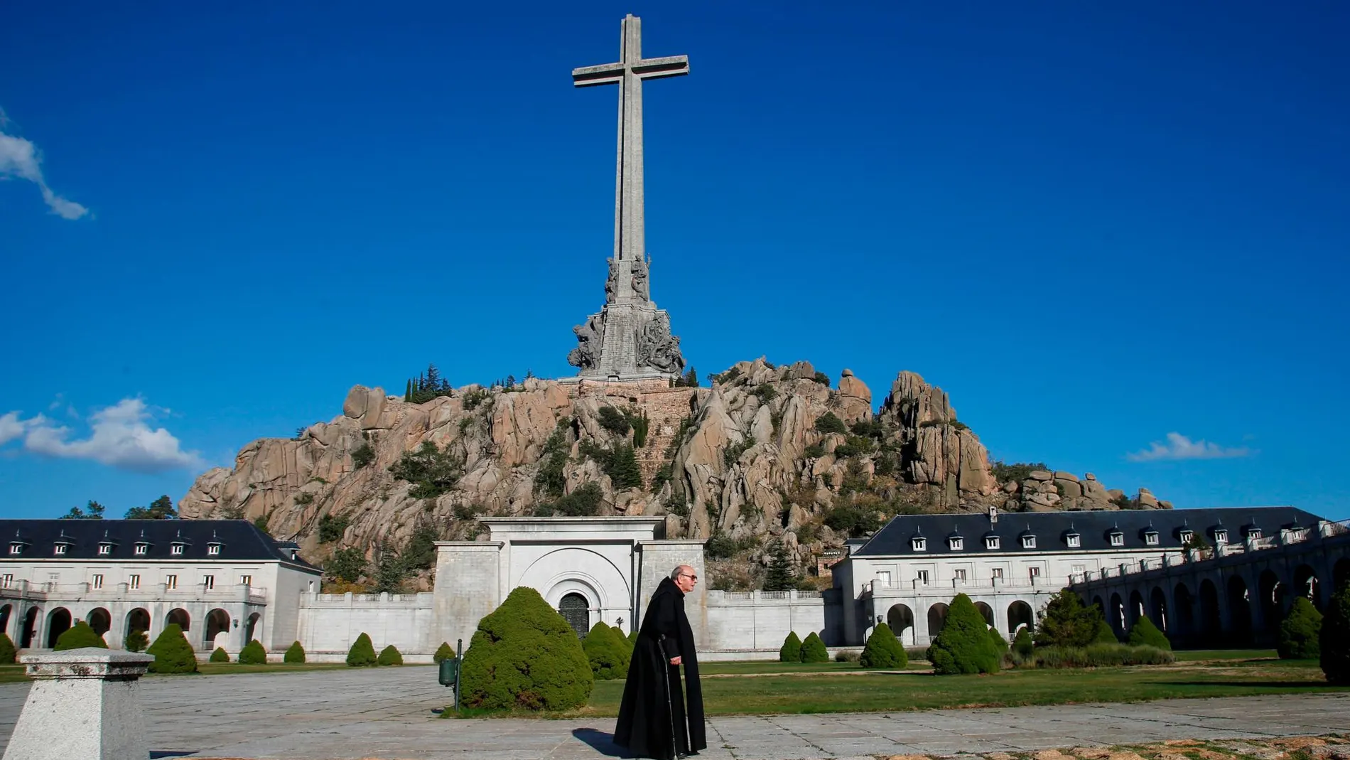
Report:
M892 517L871 539L849 540L853 556L930 556L1000 553L1046 553L1064 551L1180 549L1181 532L1193 531L1210 545L1214 532L1227 531L1227 540L1238 544L1246 531L1256 526L1264 537L1278 536L1281 528L1312 528L1322 520L1293 506L1253 506L1223 509L1123 509L1094 512L1011 512L1000 513L998 522L990 516L971 514L900 514ZM1112 547L1110 535L1123 533L1123 545ZM1145 535L1157 531L1158 543L1146 544ZM1068 535L1079 535L1079 547L1068 545ZM1035 536L1035 548L1022 548L1022 536ZM926 551L915 551L910 539L927 539ZM952 549L948 539L961 536L961 549ZM998 536L999 548L987 549L986 536Z

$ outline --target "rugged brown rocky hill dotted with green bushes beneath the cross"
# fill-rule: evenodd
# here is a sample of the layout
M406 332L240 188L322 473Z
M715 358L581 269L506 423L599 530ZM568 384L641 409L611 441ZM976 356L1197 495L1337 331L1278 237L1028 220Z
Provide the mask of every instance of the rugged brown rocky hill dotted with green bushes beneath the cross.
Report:
M526 379L412 404L356 386L332 421L202 474L180 513L261 518L316 560L428 528L473 539L482 514L666 516L670 537L716 539L714 558L765 562L780 540L811 567L898 513L1170 506L1092 474L991 467L946 393L914 373L878 413L850 371L829 381L759 359L711 387Z

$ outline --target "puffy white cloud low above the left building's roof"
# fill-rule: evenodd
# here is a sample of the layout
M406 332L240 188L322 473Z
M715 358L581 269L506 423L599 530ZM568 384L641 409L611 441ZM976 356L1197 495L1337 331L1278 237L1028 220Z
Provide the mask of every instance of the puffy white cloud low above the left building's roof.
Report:
M166 410L167 412L167 410ZM159 472L200 467L196 451L184 451L165 428L151 428L154 414L140 398L123 398L115 406L89 416L89 436L70 437L70 428L42 414L20 420L16 412L0 417L0 444L23 436L23 447L34 454L62 459L92 459L138 472Z

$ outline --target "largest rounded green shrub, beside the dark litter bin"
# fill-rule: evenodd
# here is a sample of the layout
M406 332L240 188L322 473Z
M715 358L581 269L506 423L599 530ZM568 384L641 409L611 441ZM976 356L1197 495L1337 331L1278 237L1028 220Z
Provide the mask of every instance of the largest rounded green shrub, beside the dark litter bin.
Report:
M478 621L460 678L464 705L487 710L580 707L595 686L576 632L528 586Z

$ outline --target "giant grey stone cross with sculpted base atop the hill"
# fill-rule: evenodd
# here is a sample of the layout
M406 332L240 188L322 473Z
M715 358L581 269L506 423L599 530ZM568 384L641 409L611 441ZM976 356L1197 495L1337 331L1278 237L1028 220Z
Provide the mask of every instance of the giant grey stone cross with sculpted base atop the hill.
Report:
M572 69L576 86L618 85L618 165L614 171L614 255L605 306L572 328L579 346L567 355L580 377L636 379L684 369L670 315L651 298L643 220L643 80L688 73L688 58L643 58L641 19L622 22L618 62Z

